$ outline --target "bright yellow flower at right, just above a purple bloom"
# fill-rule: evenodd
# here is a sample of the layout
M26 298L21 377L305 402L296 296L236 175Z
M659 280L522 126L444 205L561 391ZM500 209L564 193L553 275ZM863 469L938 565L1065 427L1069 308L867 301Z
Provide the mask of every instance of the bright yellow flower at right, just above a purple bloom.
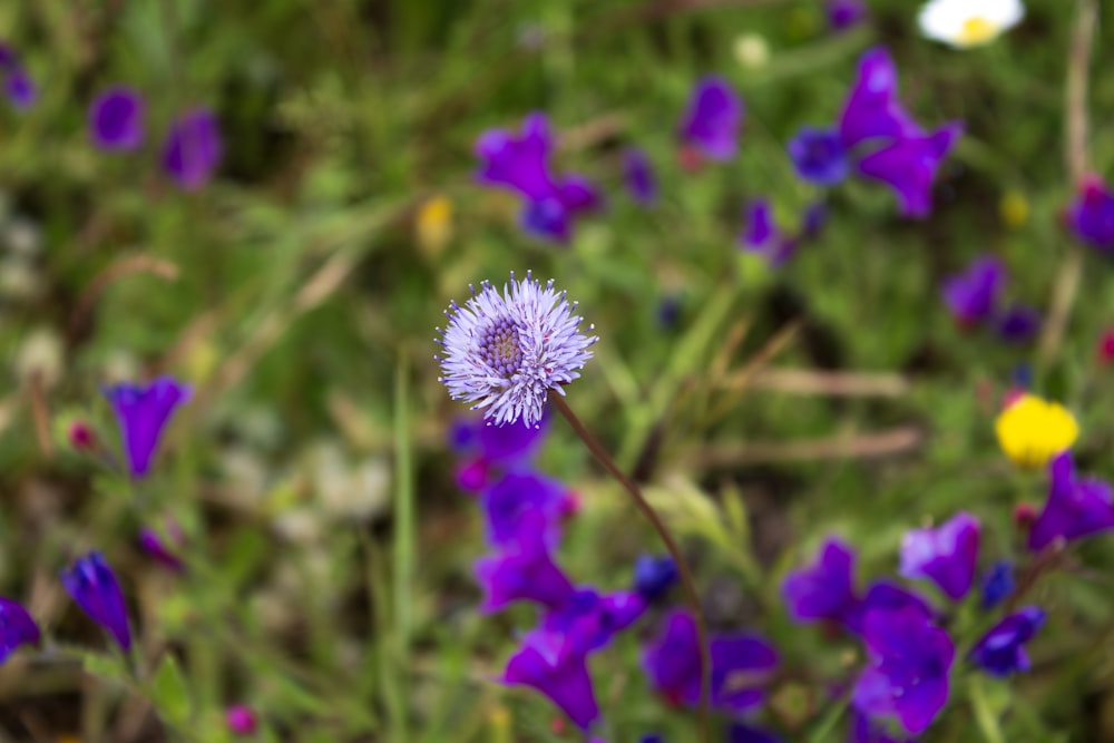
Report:
M1020 467L1040 468L1075 443L1079 427L1075 417L1058 402L1023 394L994 423L998 443Z

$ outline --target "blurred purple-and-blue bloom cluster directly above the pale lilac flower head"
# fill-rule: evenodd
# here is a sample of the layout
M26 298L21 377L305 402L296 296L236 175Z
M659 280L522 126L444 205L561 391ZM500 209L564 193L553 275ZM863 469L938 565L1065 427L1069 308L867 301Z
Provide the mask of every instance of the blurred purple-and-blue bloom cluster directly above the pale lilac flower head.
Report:
M477 179L517 192L525 199L520 222L531 234L567 242L573 218L599 207L596 187L577 175L555 178L549 169L553 136L545 114L530 114L521 135L491 129L480 135L476 155L482 165Z

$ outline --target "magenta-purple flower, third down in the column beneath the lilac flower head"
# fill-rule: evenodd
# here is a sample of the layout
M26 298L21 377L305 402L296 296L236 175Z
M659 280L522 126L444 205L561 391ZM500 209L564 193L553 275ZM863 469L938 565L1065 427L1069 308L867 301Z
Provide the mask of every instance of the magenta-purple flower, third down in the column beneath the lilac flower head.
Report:
M541 515L527 511L514 544L499 555L476 561L476 579L483 589L480 610L498 612L511 602L534 602L558 609L573 595L573 584L554 563L541 538L544 530Z

